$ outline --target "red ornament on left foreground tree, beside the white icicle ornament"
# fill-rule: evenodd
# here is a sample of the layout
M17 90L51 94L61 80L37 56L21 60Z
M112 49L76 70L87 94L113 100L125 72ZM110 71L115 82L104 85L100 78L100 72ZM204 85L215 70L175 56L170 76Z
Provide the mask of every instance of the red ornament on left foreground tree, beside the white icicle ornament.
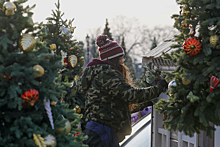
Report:
M38 101L39 98L39 92L35 89L30 89L28 91L25 91L25 93L22 95L22 98L31 106L33 106L36 101Z

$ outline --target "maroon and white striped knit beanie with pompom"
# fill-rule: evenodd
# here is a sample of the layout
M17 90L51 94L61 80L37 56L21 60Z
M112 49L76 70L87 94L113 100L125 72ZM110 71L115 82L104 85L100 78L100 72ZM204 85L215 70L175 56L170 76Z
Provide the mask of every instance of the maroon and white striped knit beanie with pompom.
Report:
M99 35L96 38L96 45L99 47L99 57L101 60L113 59L124 56L123 48L117 42L108 40L107 35Z

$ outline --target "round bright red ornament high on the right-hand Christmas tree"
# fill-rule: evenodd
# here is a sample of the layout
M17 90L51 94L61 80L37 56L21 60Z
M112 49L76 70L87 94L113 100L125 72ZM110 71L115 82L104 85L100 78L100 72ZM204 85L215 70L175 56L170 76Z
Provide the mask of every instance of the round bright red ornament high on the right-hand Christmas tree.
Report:
M183 44L183 50L187 55L197 55L200 52L201 43L194 37L188 38Z

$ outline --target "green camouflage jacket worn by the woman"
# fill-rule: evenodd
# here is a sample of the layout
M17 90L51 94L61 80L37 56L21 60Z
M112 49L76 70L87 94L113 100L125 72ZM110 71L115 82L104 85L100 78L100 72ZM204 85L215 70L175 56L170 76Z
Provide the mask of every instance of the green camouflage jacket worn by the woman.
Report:
M85 68L81 78L82 88L86 91L86 121L93 120L108 125L125 137L131 133L129 104L157 98L162 87L133 88L106 61L93 59L92 62L96 64Z

